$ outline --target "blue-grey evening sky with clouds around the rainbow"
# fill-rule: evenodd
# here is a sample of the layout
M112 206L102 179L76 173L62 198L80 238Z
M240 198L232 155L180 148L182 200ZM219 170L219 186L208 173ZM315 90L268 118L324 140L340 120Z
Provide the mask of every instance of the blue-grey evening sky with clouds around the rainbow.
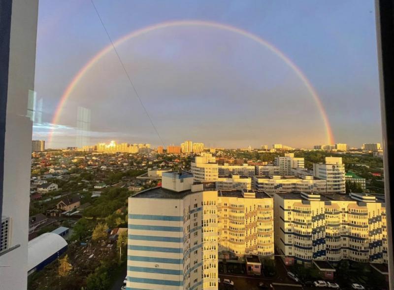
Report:
M335 141L381 142L374 2L102 1L113 40L157 23L213 21L273 44L305 74L328 114ZM47 139L63 91L109 40L89 0L40 0L35 90ZM274 53L234 33L178 27L118 47L164 145L325 144L321 113L296 74ZM75 145L77 107L91 110L89 142L161 145L116 55L109 53L71 94L52 147ZM59 126L60 125L60 126Z

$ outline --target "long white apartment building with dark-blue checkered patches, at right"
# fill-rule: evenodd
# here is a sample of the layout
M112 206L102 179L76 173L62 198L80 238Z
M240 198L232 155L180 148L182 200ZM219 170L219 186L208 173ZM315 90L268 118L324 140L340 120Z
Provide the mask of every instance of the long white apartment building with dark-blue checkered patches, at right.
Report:
M275 247L286 264L387 262L386 211L375 196L276 193Z

